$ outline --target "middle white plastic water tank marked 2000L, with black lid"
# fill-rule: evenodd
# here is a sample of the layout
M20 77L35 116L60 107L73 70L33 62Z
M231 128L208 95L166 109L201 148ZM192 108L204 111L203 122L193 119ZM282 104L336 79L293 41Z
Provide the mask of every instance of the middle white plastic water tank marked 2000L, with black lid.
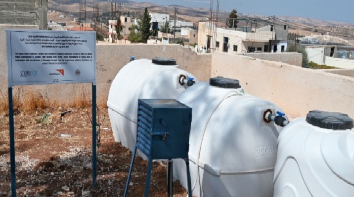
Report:
M281 110L245 94L239 81L212 78L186 89L178 101L192 108L189 164L197 197L272 197L276 142L281 127L266 122ZM174 177L187 187L185 162Z

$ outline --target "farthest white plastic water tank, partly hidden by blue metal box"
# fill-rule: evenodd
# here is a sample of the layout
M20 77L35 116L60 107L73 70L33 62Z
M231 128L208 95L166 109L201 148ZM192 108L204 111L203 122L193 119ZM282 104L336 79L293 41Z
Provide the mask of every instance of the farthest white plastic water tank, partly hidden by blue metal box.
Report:
M198 82L174 59L138 59L125 65L112 81L107 100L115 141L133 151L138 99L176 99L193 81Z

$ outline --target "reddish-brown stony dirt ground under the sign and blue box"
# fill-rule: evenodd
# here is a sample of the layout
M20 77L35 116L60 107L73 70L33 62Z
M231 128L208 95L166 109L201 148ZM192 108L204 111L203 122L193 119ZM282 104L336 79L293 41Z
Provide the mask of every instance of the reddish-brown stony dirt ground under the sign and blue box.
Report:
M60 112L70 111L61 116ZM91 109L15 110L18 197L122 197L132 153L114 141L107 109L97 112L97 188L92 190ZM62 137L61 135L66 135ZM135 158L128 195L144 194L147 162ZM0 197L10 191L8 115L0 115ZM150 197L167 196L166 166L154 163ZM174 182L174 196L187 192Z

